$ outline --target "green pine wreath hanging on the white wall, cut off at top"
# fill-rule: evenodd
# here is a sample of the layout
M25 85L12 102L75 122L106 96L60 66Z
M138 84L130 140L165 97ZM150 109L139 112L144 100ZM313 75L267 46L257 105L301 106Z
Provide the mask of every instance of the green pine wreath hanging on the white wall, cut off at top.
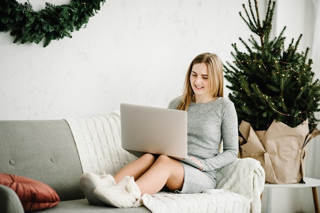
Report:
M34 11L28 2L0 0L0 32L10 32L14 43L40 43L48 46L52 40L71 38L101 8L105 0L71 0L70 5L45 3L45 8Z

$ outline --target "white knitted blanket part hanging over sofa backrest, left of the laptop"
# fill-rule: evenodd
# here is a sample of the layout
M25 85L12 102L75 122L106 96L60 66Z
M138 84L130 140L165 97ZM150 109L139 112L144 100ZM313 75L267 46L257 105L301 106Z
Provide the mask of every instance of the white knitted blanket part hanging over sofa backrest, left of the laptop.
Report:
M78 149L83 172L115 175L136 157L121 148L120 112L107 117L65 119Z

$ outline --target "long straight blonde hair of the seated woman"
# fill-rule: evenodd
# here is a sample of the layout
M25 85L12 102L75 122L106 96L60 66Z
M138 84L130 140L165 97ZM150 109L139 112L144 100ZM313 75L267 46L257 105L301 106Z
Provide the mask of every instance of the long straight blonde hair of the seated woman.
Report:
M223 97L223 68L222 62L220 58L214 53L202 53L196 56L186 74L183 94L182 94L182 101L177 107L179 110L186 110L188 109L193 96L194 92L191 87L190 82L190 75L192 72L192 67L194 64L197 63L205 63L208 66L208 76L209 76L209 85L211 87L211 96L212 97Z

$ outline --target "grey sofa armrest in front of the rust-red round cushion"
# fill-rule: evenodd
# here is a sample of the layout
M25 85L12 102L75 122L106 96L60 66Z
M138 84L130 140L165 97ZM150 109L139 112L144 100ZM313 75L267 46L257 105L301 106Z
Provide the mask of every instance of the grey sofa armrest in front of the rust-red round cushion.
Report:
M0 184L0 207L3 213L24 213L17 194L8 186Z

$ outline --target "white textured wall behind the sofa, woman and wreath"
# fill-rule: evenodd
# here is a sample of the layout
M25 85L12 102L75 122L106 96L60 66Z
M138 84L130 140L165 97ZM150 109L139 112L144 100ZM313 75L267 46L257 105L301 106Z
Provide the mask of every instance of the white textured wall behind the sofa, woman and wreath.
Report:
M35 10L44 2L30 0ZM103 116L121 102L167 107L197 54L232 61L231 43L250 34L241 4L107 0L86 28L46 48L0 33L0 119Z

